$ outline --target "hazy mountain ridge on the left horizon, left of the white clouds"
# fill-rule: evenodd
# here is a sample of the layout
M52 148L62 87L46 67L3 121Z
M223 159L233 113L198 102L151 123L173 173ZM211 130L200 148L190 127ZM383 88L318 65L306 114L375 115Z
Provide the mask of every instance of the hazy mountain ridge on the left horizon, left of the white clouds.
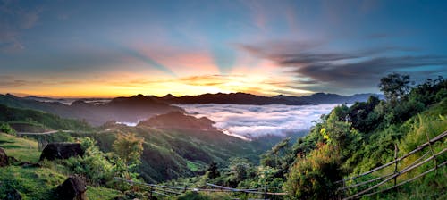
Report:
M91 125L101 125L106 121L139 121L166 112L183 110L158 101L155 96L118 97L105 104L93 104L77 100L72 104L42 102L27 97L10 94L0 95L0 104L16 108L28 108L53 113L64 118L88 121Z

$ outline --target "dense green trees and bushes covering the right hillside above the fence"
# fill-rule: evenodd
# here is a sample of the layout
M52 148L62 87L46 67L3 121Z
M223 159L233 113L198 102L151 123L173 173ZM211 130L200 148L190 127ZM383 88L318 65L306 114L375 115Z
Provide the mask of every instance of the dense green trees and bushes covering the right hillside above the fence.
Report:
M284 187L291 193L291 198L330 198L334 191L331 183L338 180L331 179L332 176L341 179L341 176L368 171L392 161L395 144L399 144L399 154L405 154L424 143L426 137L432 138L445 131L447 81L440 77L427 79L416 87L409 87L409 83L409 76L391 74L381 79L379 86L386 101L371 96L365 103L350 107L341 105L329 115L322 116L308 136L300 138L291 148L291 152L298 155L293 162L287 162L291 168ZM333 149L336 155L329 154L333 158L322 159L327 150L321 146ZM435 151L440 151L443 143L432 146ZM401 163L402 166L422 154L424 152L410 156ZM445 161L447 156L437 158ZM322 172L325 166L333 169ZM425 164L405 176L411 178L433 166L433 163ZM445 174L445 170L441 173ZM418 183L424 185L426 191L430 190L429 186L435 191L443 191L446 186L442 182L427 175L403 188L417 188Z

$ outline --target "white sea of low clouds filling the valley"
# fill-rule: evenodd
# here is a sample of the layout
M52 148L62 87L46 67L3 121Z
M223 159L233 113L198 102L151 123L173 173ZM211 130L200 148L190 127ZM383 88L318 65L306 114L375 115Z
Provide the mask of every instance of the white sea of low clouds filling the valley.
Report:
M215 121L224 133L245 139L307 130L322 114L337 104L320 105L240 105L179 104L191 115Z

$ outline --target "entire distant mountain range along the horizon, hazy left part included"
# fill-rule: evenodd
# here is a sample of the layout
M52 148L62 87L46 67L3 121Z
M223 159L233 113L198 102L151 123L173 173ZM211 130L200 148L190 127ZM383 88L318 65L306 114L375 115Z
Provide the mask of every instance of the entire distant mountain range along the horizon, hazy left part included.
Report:
M0 104L10 107L34 109L50 112L64 118L88 121L99 126L106 121L141 121L157 114L168 112L184 112L175 104L353 104L357 101L367 101L369 96L376 94L356 94L341 96L336 94L316 93L310 96L256 96L247 93L204 94L198 96L130 96L113 99L72 99L67 104L66 99L27 96L18 97L11 94L0 95Z

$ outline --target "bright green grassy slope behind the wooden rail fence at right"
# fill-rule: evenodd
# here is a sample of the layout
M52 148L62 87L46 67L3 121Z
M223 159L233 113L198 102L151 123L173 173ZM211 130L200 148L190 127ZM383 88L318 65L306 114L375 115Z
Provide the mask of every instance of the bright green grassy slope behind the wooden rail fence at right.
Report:
M384 129L380 132L376 132L377 135L389 135L390 132L402 131L404 136L398 142L398 148L400 149L399 156L402 154L407 154L411 150L415 149L417 146L426 142L426 134L428 137L433 138L443 131L447 130L447 99L439 104L434 104L430 106L425 112L418 114L410 118L408 121L401 124L397 128L392 130ZM436 142L432 145L434 147L434 152L439 152L446 146L446 140ZM401 171L404 167L408 166L411 162L414 162L429 151L429 148L425 148L423 151L413 154L402 161L398 166L398 171ZM393 151L389 151L384 156L390 158L393 157ZM369 164L372 157L367 157L362 162L358 163L358 169L365 169L365 166ZM447 154L443 154L437 157L438 161L445 161L447 159ZM439 162L438 162L439 164ZM387 167L382 171L375 172L372 177L384 176L385 174L392 173L394 170L392 165ZM404 181L406 179L411 179L417 174L420 174L428 169L434 167L434 162L427 162L420 168L417 168L409 173L403 175L398 179L399 181ZM359 170L366 171L366 170ZM408 184L405 184L398 188L398 192L388 192L383 193L378 196L364 197L363 199L447 199L447 168L444 166L436 172L430 172L426 176L416 179ZM392 181L386 184L384 187L391 187ZM384 188L381 187L381 188Z

